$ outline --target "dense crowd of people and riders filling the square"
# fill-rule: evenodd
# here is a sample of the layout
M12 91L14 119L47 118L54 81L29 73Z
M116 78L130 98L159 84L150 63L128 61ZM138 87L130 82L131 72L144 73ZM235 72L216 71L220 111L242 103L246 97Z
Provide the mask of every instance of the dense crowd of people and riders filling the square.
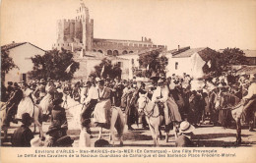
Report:
M47 81L40 79L30 83L8 81L8 85L6 87L2 85L1 90L1 100L6 102L7 108L2 129L8 128L10 122L17 123L17 118L20 118L23 126L14 133L13 145L28 146L28 141L32 140L33 143L40 141L43 136L40 139L34 139L28 128L31 125L29 117L33 117L32 108L38 106L41 109L40 121L49 119L51 122L46 133L50 138L45 140L43 145L56 146L72 143L73 140L67 136L68 124L63 107L67 96L83 104L81 126L89 135L92 116L96 123L109 126L113 106L122 108L126 115L128 130L133 131L132 125L139 124L140 120L143 128L148 129L145 115L140 115L137 111L140 94L147 94L158 104L160 115L164 117L163 125L166 131L171 128L170 122L183 123L179 126L180 137L177 138L176 144L184 146L182 143L188 142L184 138L186 133L184 131L188 130L184 129L188 124L191 126L189 133L194 130L194 127L206 122L214 126L227 126L227 111L216 107L216 101L222 93L228 92L241 100L255 103L255 79L255 75L237 75L229 71L218 78L209 77L201 80L193 79L186 74L182 77L173 74L168 78L160 74L159 77L147 82L135 79L126 81L119 78L114 80L91 78L86 82L78 81L75 84L50 79ZM254 112L252 109L247 110L244 117L248 121L250 131L253 131ZM27 142L21 143L19 138L23 133L26 133L26 138L22 141ZM190 143L189 141L189 145Z

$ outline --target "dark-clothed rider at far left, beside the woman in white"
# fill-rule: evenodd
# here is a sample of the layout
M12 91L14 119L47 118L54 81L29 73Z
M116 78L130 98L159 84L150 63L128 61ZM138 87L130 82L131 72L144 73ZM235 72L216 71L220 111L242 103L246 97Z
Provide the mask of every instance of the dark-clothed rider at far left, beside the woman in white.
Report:
M3 121L3 127L10 127L10 122L14 120L14 116L17 114L18 105L23 99L23 90L20 88L17 82L14 83L14 92L12 93L10 99L7 101L7 111ZM3 128L2 128L3 129Z

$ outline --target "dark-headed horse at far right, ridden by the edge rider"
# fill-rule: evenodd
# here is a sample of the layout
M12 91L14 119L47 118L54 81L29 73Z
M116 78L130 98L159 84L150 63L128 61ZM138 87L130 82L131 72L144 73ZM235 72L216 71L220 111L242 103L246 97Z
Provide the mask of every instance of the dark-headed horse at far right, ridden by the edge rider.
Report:
M215 104L216 109L226 110L227 114L231 113L236 124L236 144L241 143L241 118L244 114L244 101L237 96L223 92L218 94ZM252 106L253 107L253 106Z

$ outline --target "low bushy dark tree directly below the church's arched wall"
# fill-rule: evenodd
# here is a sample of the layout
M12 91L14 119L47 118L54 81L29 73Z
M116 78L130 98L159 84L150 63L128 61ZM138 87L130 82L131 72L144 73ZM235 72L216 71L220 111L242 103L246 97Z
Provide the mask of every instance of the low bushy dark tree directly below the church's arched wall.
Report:
M115 79L116 77L121 78L122 70L120 68L120 65L118 64L112 65L111 61L106 58L102 59L101 63L95 66L96 71L92 72L90 74L90 77L94 77L94 78L100 77L103 67L104 67L104 71L101 78L104 78L104 79L106 77L109 77L110 79Z

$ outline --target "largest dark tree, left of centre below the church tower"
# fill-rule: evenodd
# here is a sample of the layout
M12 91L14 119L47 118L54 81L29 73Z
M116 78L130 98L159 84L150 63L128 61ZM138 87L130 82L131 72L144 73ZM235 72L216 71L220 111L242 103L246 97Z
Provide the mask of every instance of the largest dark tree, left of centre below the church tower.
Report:
M70 51L56 49L44 55L32 57L33 70L29 73L31 79L72 80L74 73L79 69L79 63L73 60ZM70 66L70 71L67 68Z

